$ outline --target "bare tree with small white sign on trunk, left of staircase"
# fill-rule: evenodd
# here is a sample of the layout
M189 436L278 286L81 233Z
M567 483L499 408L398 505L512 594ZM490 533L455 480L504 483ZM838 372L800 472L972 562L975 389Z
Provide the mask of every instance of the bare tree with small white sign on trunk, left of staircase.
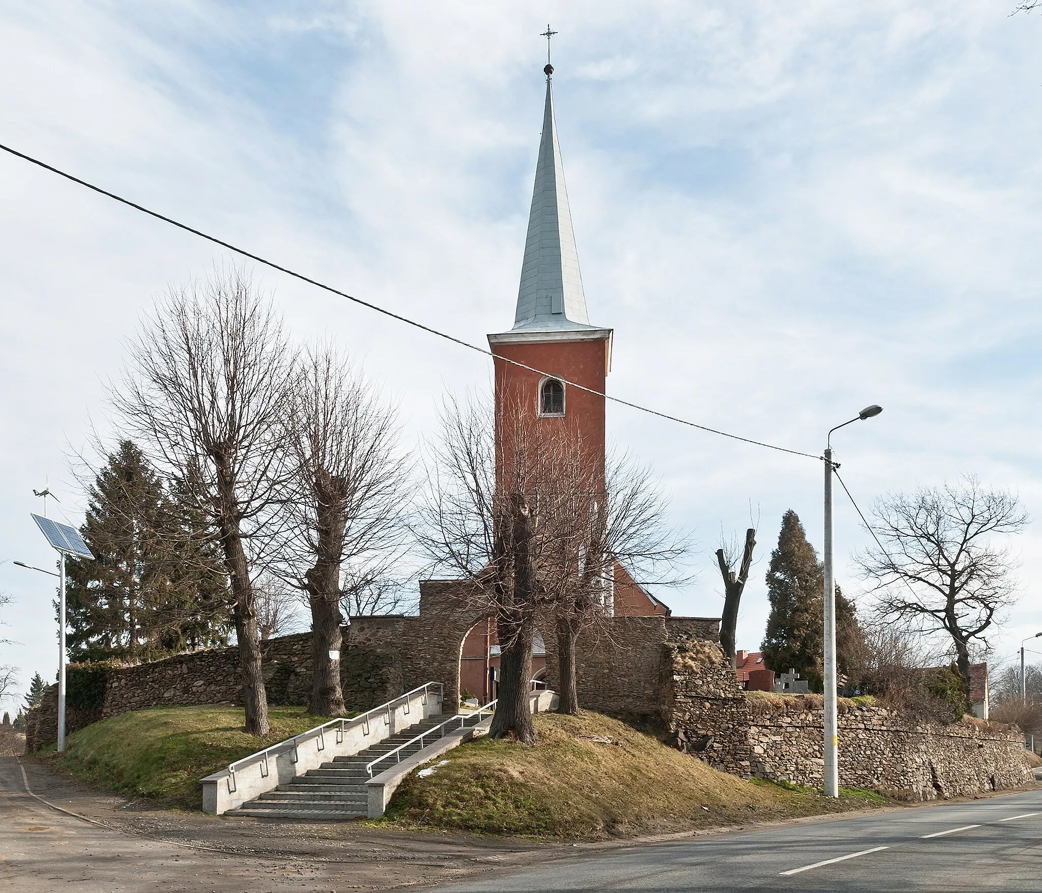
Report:
M304 352L293 376L287 438L293 477L282 560L312 610L308 710L343 716L342 570L352 594L382 585L400 556L408 468L397 410L331 346Z

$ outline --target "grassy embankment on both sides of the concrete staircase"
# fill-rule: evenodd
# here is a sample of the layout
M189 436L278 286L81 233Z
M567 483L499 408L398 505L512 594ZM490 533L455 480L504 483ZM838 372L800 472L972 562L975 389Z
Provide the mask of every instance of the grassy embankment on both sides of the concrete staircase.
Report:
M274 743L319 724L301 708L272 708ZM47 759L88 784L198 810L199 779L264 742L242 730L242 709L156 708L102 720ZM690 830L838 812L886 802L839 801L794 787L717 772L652 736L595 713L540 714L534 747L480 739L435 761L399 788L383 826L547 839Z

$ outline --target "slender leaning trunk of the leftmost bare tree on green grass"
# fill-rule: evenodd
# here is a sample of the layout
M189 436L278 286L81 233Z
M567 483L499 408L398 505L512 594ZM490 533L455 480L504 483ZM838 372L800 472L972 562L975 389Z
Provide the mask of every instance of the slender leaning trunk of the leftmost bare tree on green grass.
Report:
M229 517L228 513L222 515L224 519ZM246 734L264 738L271 726L268 723L268 692L264 687L264 671L260 666L260 642L249 565L238 524L222 520L221 527L221 547L235 604L235 638L239 640L239 672L243 680L243 703L246 706Z

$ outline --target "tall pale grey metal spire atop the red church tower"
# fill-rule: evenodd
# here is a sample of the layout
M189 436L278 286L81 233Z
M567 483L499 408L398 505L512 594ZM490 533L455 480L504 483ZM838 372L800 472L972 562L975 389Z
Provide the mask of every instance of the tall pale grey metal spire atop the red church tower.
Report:
M536 165L536 189L521 267L514 331L589 328L579 256L565 190L557 127L553 120L552 67L547 65L543 138Z

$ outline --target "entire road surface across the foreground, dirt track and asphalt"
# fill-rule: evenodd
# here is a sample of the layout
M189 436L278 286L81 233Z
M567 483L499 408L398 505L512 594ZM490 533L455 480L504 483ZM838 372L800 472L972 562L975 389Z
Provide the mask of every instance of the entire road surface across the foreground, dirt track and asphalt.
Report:
M89 812L97 795L28 766L34 791ZM48 787L50 786L50 787ZM120 810L95 813L111 821ZM958 803L800 822L620 848L519 847L506 842L413 841L329 826L239 823L208 818L188 833L215 845L258 836L281 854L215 852L102 827L56 812L25 793L21 767L0 760L0 891L50 893L282 893L418 888L440 891L1039 891L1042 790ZM241 820L247 821L247 820ZM177 823L175 823L177 824ZM163 826L166 834L173 827ZM251 825L252 827L252 825ZM245 835L248 828L239 830ZM304 838L291 840L291 832ZM298 835L299 837L299 835ZM344 838L340 841L340 838ZM292 846L291 846L292 844ZM340 845L344 844L344 845ZM527 851L525 851L527 850ZM476 872L476 873L475 873ZM470 875L467 878L467 875ZM430 888L426 888L430 889Z

